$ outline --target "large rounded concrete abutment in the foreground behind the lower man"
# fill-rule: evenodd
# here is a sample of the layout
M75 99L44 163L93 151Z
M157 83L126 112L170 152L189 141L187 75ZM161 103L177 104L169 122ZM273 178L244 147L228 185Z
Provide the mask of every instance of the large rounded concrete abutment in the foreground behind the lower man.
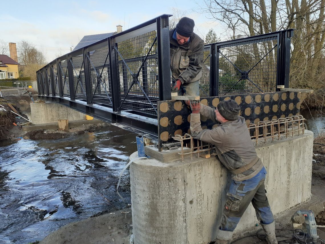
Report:
M311 196L313 133L256 146L266 175L273 214ZM137 153L130 156L130 160ZM130 165L135 244L206 244L215 239L230 175L216 157L175 160L138 159ZM235 232L257 224L252 205Z

